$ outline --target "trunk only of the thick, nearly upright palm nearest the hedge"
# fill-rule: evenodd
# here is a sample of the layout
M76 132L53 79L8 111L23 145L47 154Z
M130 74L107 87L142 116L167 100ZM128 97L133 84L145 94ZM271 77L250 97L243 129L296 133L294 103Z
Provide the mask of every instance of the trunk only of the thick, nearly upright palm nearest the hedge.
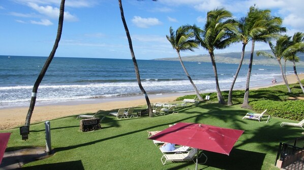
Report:
M251 76L251 70L252 70L252 63L253 63L254 43L255 43L255 40L253 39L253 40L252 40L252 45L251 45L251 54L250 54L248 72L247 72L247 79L246 79L246 87L245 87L244 101L243 101L243 104L241 105L242 108L251 108L251 107L249 106L249 82L250 82L250 76Z

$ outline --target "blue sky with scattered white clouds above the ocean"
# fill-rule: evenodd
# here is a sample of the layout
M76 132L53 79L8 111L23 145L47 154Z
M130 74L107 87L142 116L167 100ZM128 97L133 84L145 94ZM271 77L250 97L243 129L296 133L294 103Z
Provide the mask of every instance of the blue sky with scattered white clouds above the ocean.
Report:
M269 9L283 19L286 34L304 32L302 0L122 0L136 59L177 57L166 35L186 24L203 27L206 14L225 8L234 18L246 16L250 6ZM56 37L60 0L1 0L0 55L49 56ZM250 51L251 45L246 51ZM255 50L268 50L257 43ZM233 44L215 53L240 52ZM205 49L181 56L208 54ZM66 0L63 33L55 57L131 59L118 1Z

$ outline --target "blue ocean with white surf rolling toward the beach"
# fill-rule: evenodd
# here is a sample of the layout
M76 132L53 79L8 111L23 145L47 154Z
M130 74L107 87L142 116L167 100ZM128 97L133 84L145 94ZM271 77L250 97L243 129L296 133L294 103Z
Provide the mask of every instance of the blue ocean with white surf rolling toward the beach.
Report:
M0 108L29 106L33 85L47 57L0 56ZM179 61L137 60L148 95L193 92ZM211 63L184 62L201 93L216 91ZM217 63L220 88L229 90L237 64ZM297 68L304 72L304 68ZM243 65L234 89L244 89ZM292 74L292 67L287 67ZM282 81L279 66L253 65L250 87ZM37 93L36 105L142 95L131 59L54 57Z

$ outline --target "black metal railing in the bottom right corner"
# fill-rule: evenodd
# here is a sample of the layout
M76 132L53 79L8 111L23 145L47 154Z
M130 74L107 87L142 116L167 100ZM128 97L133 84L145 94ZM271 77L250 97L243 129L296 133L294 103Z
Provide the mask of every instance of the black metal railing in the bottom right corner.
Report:
M276 164L279 158L285 169L304 169L304 136L286 143L280 142Z

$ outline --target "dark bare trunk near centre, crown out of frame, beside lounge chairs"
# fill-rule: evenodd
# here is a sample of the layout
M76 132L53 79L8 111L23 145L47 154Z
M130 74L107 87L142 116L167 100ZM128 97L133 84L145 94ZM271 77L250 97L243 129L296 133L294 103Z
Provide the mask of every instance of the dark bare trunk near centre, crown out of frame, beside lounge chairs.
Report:
M131 56L132 56L132 61L133 61L134 68L135 68L135 74L136 74L137 83L138 83L139 89L143 93L143 96L145 97L145 100L147 102L147 106L148 106L148 109L149 109L149 117L153 117L153 113L152 113L152 108L151 108L149 97L148 97L146 91L143 89L143 87L141 85L139 69L138 69L137 61L136 61L135 54L134 54L134 51L133 51L132 39L131 39L130 32L129 32L129 29L128 29L128 26L127 26L127 22L126 22L126 19L125 19L123 4L121 4L121 0L118 0L118 4L119 4L119 9L120 9L121 20L123 20L123 24L124 24L124 27L125 27L125 30L126 30L126 34L127 34L127 37L128 37L129 48L130 48L130 52L131 52Z

